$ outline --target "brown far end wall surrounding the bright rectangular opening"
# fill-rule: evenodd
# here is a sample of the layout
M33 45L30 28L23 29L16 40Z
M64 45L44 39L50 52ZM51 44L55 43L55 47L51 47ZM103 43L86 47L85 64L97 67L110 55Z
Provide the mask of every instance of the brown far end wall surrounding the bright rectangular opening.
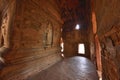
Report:
M86 57L90 57L89 54L89 37L88 37L88 30L71 30L68 32L64 32L63 36L64 41L64 54L66 57L72 57L78 55L78 44L85 45L85 55Z

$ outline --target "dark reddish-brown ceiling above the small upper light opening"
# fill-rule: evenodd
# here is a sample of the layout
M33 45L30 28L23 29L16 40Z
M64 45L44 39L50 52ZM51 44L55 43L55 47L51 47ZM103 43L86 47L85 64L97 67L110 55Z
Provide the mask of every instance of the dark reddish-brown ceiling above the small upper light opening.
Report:
M90 24L90 0L59 0L64 27L72 30L76 24L87 28Z

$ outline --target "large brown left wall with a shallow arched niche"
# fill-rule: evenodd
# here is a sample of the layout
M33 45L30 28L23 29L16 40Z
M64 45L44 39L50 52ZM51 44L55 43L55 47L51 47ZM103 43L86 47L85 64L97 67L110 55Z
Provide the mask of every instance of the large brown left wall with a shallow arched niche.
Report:
M61 18L56 0L15 0L10 50L2 80L21 80L61 60ZM14 7L14 8L12 8ZM8 12L11 13L13 11Z

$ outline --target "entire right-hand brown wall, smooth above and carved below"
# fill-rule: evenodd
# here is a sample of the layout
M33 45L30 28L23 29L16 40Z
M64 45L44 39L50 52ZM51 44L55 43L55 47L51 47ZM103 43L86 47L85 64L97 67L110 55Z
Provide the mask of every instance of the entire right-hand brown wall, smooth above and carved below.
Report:
M95 0L103 80L120 80L120 0Z

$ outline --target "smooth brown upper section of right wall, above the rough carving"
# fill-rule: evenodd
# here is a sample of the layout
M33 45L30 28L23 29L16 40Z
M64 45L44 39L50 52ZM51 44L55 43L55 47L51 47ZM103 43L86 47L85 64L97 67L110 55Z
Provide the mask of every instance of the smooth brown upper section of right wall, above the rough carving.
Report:
M109 31L120 21L119 0L95 0L95 11L99 35ZM104 27L104 28L103 28Z

